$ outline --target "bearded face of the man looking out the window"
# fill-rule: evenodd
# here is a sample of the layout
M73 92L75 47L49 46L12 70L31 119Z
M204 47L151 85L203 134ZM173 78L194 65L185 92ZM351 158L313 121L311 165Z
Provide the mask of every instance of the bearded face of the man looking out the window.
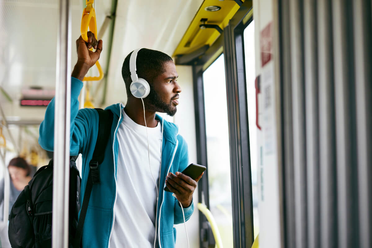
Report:
M174 116L178 105L176 99L179 98L181 87L176 81L178 74L174 62L166 62L164 68L165 72L150 82L150 94L144 100L147 102L148 110Z

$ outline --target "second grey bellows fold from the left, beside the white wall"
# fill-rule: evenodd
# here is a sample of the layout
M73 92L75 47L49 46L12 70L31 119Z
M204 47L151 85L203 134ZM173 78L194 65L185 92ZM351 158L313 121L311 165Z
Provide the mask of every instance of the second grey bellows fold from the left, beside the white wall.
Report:
M291 0L293 157L295 182L296 248L307 246L306 144L302 1Z

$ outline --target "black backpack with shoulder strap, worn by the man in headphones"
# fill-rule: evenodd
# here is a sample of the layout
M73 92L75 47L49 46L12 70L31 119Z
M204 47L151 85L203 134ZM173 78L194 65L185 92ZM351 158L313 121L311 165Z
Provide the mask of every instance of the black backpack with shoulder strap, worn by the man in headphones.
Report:
M83 204L80 204L81 178L76 167L77 156L70 157L70 200L68 242L70 248L81 246L84 220L92 192L92 186L99 183L98 165L102 163L105 148L110 137L113 114L110 110L96 109L99 114L99 128ZM52 247L52 190L53 160L41 167L25 189L19 194L9 215L9 241L13 248ZM80 219L78 212L80 210Z

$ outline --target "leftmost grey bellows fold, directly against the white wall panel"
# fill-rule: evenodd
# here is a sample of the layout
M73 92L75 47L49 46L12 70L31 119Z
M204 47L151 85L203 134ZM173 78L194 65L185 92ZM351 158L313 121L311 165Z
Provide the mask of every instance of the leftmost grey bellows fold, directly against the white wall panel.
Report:
M293 168L292 136L292 85L291 85L291 39L289 20L289 0L280 1L282 87L283 87L283 165L285 181L285 247L296 247L295 227L295 186Z

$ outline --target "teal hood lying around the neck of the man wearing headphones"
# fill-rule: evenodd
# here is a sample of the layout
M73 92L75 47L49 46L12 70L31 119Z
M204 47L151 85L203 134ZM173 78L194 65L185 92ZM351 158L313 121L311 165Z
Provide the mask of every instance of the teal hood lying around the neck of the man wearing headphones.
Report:
M122 104L122 103L112 104L112 105L106 107L106 109L111 110L111 112L114 115L114 119L119 120L119 118L121 116L120 115L121 109L124 109L124 104ZM155 119L160 121L160 123L163 123L163 118L160 115L156 114ZM119 121L121 123L122 119L120 119ZM167 141L170 141L173 144L176 144L177 135L178 135L178 126L174 123L168 122L165 119L164 119L164 124L163 125L164 125L164 127L163 127L164 128L164 138L167 139Z

